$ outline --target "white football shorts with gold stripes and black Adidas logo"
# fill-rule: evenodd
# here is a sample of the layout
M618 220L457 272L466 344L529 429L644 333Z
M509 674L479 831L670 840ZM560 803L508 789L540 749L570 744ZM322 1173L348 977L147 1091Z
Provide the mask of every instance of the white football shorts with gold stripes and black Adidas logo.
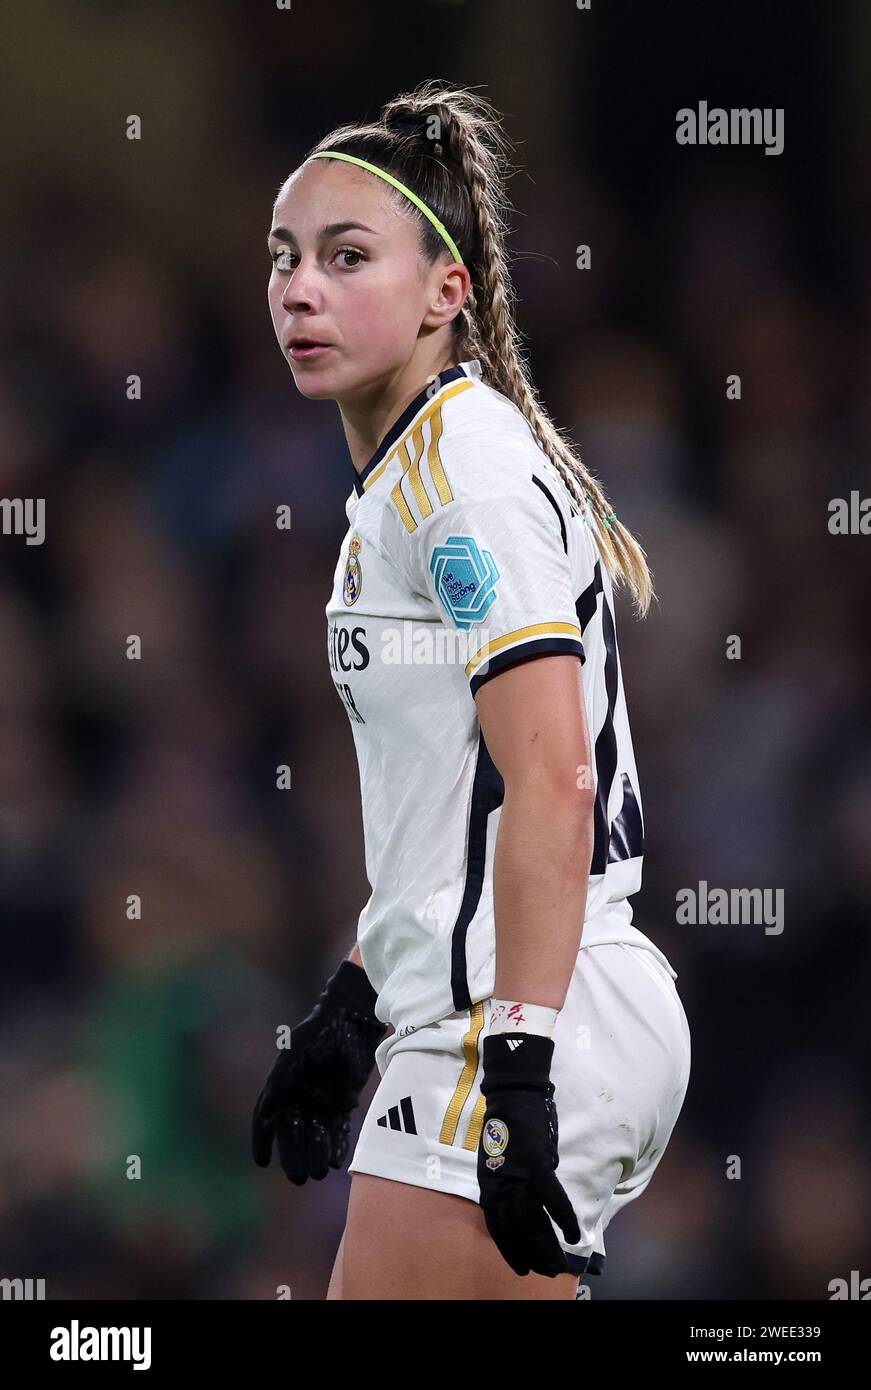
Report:
M639 945L578 951L550 1069L557 1177L581 1240L568 1245L551 1225L578 1275L603 1273L606 1227L647 1187L683 1105L690 1041L674 980L671 966ZM375 1054L381 1084L349 1172L479 1200L485 1011L485 1002L474 1004L382 1040Z

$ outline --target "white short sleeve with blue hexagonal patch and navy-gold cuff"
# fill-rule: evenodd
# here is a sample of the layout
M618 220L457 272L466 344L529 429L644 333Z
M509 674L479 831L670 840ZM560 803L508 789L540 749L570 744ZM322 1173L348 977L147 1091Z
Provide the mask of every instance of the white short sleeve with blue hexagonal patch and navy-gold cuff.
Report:
M465 634L471 694L546 653L585 660L565 528L532 477L488 480L454 495L404 535L415 588Z

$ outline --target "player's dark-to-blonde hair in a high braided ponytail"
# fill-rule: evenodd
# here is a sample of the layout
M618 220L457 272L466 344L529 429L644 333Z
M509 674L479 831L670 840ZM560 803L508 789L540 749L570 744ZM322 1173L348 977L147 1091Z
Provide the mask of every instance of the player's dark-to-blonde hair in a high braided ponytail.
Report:
M550 418L529 377L514 320L514 286L506 250L506 175L510 140L499 113L468 88L429 78L386 103L371 125L345 125L310 150L357 154L399 178L445 222L471 275L471 289L451 331L460 359L478 357L483 381L511 400L558 470L570 495L597 524L597 542L613 581L625 582L643 616L653 598L645 552L617 520L596 478ZM424 254L446 254L429 220L401 193L390 192L421 224Z

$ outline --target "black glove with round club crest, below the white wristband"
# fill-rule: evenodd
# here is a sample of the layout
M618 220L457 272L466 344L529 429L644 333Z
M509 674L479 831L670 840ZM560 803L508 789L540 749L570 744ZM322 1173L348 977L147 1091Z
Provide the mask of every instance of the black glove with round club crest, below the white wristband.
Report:
M488 1034L482 1059L486 1111L478 1186L486 1226L515 1275L554 1277L568 1262L547 1212L567 1244L581 1240L581 1229L554 1173L560 1131L550 1080L553 1038Z

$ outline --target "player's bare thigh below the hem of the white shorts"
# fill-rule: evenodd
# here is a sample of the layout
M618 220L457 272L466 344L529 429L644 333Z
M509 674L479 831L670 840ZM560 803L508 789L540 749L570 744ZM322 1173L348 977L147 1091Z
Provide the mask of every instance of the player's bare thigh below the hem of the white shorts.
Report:
M350 1298L574 1300L578 1275L515 1275L468 1197L372 1173L351 1176L342 1237L342 1293Z

